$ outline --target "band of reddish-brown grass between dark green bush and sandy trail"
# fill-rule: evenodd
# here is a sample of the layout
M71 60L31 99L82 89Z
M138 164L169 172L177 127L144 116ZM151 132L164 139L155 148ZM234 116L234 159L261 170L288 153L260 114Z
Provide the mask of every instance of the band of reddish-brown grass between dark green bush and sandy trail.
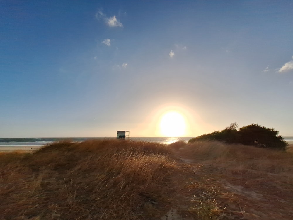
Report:
M289 174L293 170L293 153L290 150L284 152L219 141L196 141L183 145L180 154L199 163L220 166L235 172L239 170Z

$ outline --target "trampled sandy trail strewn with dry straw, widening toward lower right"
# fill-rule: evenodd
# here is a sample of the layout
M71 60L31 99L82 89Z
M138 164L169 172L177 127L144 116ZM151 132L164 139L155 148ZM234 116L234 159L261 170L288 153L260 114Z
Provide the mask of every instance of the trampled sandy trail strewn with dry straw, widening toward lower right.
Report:
M174 151L174 156L186 174L178 198L181 205L162 219L293 219L293 186L280 181L278 175L253 170L234 172L196 161L180 149ZM209 210L200 206L213 210L215 215L208 216Z

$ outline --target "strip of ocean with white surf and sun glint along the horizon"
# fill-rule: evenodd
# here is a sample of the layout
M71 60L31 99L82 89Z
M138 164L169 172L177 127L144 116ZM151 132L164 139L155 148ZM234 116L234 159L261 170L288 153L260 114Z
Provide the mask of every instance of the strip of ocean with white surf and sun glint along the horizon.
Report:
M176 141L188 142L192 137L179 137L179 138L129 138L130 141L148 141L156 142L162 144L171 144ZM105 138L0 138L0 150L1 149L38 149L43 145L47 145L56 141L70 140L74 142L81 142L86 140L103 140ZM116 139L116 138L106 138L106 139ZM285 141L292 144L293 136L284 136Z

